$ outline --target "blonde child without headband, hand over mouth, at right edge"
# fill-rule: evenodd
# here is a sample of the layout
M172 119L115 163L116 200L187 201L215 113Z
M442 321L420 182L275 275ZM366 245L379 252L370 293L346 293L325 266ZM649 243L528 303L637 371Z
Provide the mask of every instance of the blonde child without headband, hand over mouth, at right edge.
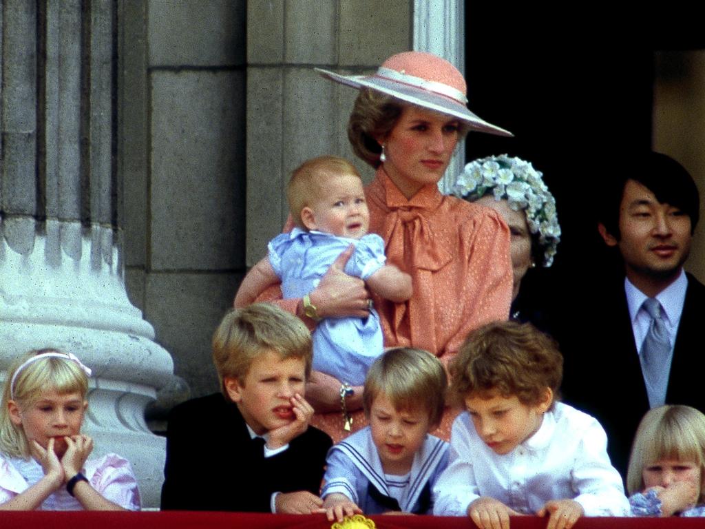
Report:
M634 516L705 516L705 415L660 406L644 415L632 446L627 490Z

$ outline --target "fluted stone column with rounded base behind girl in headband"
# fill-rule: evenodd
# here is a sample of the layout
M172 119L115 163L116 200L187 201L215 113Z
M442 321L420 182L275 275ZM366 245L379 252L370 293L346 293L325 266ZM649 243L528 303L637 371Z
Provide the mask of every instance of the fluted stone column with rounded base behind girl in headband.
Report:
M171 357L128 300L116 170L116 3L0 4L0 370L52 346L92 367L84 431L159 502L147 403Z

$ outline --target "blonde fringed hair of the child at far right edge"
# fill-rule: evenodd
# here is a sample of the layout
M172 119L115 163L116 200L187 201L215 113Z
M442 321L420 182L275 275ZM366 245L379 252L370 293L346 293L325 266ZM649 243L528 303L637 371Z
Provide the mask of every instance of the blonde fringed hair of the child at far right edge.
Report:
M646 412L629 458L629 494L644 490L644 468L662 459L692 461L700 467L698 503L704 503L705 415L690 406L659 406Z

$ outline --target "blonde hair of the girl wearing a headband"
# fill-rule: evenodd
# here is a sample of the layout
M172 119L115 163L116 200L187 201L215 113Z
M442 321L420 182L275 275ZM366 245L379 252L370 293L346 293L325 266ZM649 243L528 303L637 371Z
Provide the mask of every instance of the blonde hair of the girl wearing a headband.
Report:
M7 456L30 456L30 446L22 425L15 425L10 419L9 401L14 400L20 408L27 408L42 398L42 390L54 390L59 394L78 393L83 400L88 393L88 377L82 367L73 360L59 357L41 358L27 364L15 379L14 387L11 387L18 367L32 356L44 353L61 351L54 348L30 351L15 360L7 372L0 403L0 452Z

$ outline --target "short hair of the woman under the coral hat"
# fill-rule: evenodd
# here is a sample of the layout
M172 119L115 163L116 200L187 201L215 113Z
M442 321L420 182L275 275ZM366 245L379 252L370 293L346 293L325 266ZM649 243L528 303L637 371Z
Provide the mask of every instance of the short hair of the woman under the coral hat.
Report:
M413 106L376 90L361 88L348 120L348 140L353 152L374 169L379 167L382 147L376 138L385 138L391 133L404 109ZM469 130L465 121L458 120L458 140L465 138Z

